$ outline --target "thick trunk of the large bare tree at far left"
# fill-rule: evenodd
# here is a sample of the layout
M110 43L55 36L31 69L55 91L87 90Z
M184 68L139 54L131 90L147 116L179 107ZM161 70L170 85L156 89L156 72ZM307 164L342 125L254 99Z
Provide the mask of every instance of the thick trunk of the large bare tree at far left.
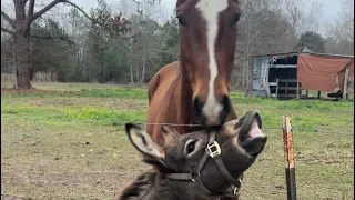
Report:
M19 31L13 37L16 89L31 89L30 38L29 31Z

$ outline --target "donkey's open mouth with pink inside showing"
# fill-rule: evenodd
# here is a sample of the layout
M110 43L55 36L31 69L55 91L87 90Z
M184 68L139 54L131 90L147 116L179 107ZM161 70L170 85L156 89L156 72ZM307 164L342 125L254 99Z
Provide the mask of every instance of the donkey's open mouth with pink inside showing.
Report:
M252 157L260 154L266 144L262 129L262 118L257 111L248 111L242 119L239 143Z

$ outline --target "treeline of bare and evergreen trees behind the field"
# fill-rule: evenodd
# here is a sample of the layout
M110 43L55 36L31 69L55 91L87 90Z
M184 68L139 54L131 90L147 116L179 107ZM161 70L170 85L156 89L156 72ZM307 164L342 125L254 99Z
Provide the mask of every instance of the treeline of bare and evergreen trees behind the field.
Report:
M121 1L123 2L123 1ZM343 10L328 32L320 34L318 6L306 0L245 0L239 22L232 83L248 88L253 54L288 52L303 47L316 52L354 54L354 9ZM305 10L310 3L311 9ZM351 0L344 0L349 8ZM144 83L166 63L179 60L179 23L174 16L159 23L158 3L125 0L114 13L104 0L90 11L93 22L72 8L60 20L43 16L30 38L31 76L51 72L58 81ZM353 7L351 7L353 8ZM124 10L123 10L124 9ZM152 11L152 12L149 12ZM349 12L349 13L347 13ZM155 14L156 16L156 14ZM98 26L103 24L103 26ZM1 72L13 72L12 38L1 32Z

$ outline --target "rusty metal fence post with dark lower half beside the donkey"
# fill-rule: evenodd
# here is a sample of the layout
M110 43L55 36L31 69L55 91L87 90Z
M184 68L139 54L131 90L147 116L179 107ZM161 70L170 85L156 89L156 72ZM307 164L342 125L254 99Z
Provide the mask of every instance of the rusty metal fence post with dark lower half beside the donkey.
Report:
M291 126L291 117L282 117L282 130L284 139L284 158L286 163L286 187L287 200L296 200L296 176L295 176L295 159L293 151L293 131Z

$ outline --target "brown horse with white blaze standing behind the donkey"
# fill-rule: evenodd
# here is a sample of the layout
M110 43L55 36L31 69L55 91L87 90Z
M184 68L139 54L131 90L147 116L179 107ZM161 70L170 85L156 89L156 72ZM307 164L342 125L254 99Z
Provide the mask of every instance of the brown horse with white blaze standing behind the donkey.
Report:
M163 67L149 83L148 123L199 123L178 127L180 133L220 127L236 119L229 98L237 0L178 0L180 62ZM161 126L148 124L153 140L162 143Z

